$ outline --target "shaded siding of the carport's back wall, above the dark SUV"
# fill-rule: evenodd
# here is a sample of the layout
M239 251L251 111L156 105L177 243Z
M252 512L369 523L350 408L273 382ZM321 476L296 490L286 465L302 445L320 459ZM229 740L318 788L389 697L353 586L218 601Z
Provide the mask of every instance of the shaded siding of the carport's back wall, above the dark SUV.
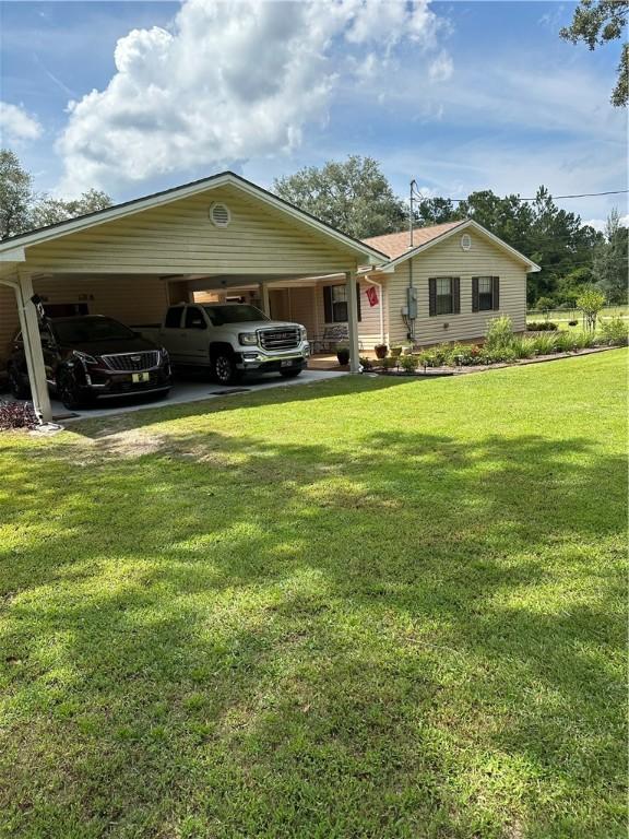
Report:
M86 303L91 315L108 315L123 323L153 323L168 305L167 284L152 276L57 277L36 280L46 303ZM0 369L20 328L15 295L0 285Z

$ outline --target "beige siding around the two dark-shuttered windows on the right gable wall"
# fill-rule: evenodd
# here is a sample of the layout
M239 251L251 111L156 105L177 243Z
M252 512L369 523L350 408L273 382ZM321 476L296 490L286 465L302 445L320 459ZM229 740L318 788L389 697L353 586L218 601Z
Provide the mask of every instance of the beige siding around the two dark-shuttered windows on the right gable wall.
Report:
M521 262L501 248L470 232L472 248L464 251L460 236L452 236L441 245L413 259L413 284L418 293L418 318L415 322L415 343L434 344L441 341L465 341L483 338L487 321L498 315L509 315L515 331L526 328L526 272ZM389 317L391 344L406 342L406 327L401 309L406 305L408 261L389 274ZM472 311L472 277L500 277L500 310ZM461 280L461 314L428 315L428 279L459 276ZM448 324L448 327L446 327Z

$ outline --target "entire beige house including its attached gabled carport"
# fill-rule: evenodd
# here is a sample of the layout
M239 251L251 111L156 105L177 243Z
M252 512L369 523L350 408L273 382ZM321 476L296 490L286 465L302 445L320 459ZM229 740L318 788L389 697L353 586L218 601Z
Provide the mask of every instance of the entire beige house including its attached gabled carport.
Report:
M525 328L530 259L473 221L359 241L226 172L0 243L0 367L25 335L34 403L51 416L34 295L50 316L158 321L171 303L248 299L304 323L314 351ZM408 289L412 291L408 291ZM415 317L414 317L415 316Z

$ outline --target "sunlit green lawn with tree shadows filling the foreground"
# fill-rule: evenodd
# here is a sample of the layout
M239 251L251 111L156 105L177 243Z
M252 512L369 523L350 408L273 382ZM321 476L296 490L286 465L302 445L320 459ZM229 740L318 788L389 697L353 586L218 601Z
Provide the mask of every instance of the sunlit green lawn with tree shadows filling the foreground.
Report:
M0 437L0 831L626 836L627 352Z

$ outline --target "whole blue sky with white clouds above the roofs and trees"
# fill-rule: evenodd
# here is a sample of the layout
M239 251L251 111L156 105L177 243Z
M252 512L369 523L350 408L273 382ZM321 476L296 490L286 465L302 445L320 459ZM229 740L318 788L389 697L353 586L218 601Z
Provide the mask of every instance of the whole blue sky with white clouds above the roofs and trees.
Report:
M5 2L3 145L39 190L116 200L230 167L347 154L396 191L624 189L619 44L559 38L573 3ZM603 220L624 197L562 202Z

